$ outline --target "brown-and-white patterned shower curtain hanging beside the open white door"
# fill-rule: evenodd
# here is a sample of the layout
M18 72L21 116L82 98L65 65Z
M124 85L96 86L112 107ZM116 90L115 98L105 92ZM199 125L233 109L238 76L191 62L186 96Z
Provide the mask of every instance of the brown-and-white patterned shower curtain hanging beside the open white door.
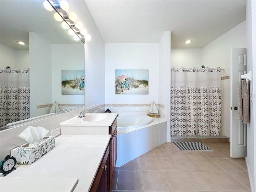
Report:
M214 138L221 134L221 68L172 68L171 138Z

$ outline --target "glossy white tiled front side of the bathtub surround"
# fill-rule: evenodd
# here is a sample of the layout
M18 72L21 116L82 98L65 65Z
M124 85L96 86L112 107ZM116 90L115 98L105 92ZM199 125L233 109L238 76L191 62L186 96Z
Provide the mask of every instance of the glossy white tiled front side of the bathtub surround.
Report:
M166 121L117 135L117 162L120 167L166 142Z

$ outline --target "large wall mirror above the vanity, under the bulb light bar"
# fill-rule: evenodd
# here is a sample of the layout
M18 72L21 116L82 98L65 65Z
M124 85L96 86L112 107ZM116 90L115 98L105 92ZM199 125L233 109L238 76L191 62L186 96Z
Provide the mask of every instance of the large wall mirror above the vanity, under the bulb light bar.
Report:
M2 128L6 127L6 118L9 121L7 125L18 120L11 120L12 116L31 119L49 114L55 101L61 111L84 106L84 93L62 92L64 70L81 80L77 71L84 71L84 42L74 40L68 30L62 28L62 22L54 19L55 10L46 10L43 2L44 0L0 1ZM26 45L20 45L18 41ZM13 69L15 72L6 72ZM17 74L18 77L14 76ZM13 88L16 87L14 84L22 88ZM70 86L66 88L71 89ZM84 92L83 89L80 91ZM10 95L6 96L7 93ZM19 99L17 94L21 94ZM28 100L29 106L26 105ZM6 106L10 102L20 102L21 107L17 109L16 106ZM10 110L8 114L7 108ZM29 112L23 112L22 108Z

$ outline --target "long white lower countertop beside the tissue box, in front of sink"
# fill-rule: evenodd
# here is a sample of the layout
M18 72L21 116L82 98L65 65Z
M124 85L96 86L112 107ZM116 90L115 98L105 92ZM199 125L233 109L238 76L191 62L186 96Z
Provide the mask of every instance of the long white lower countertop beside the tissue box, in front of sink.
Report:
M110 135L60 135L50 152L31 165L16 165L16 170L5 178L78 178L74 191L86 192L94 180L109 140ZM48 188L54 191L56 186L46 184L46 187L46 191Z

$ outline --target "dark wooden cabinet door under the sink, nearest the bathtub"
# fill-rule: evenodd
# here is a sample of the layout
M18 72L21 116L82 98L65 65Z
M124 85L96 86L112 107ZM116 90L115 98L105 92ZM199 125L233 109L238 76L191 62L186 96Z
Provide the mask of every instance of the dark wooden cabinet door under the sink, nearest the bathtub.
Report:
M112 190L112 184L114 180L116 160L117 160L117 126L116 126L116 129L114 130L114 134L110 141L110 191Z

